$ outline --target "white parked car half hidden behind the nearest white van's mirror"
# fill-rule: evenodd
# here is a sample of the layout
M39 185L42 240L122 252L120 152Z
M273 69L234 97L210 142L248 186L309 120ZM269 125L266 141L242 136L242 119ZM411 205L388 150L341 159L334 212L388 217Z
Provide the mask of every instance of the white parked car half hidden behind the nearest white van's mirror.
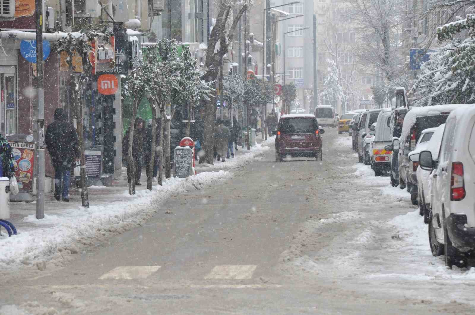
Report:
M438 126L437 128L430 128L426 130L434 130L432 137L428 141L424 150L428 150L432 153L434 159L438 158L440 142L442 141L442 135L444 134L445 124ZM424 131L426 131L424 130ZM423 132L424 132L423 131ZM426 133L427 135L428 133ZM416 149L409 153L409 160L414 164L419 162L419 153L421 151L420 146L416 146ZM429 220L429 209L430 209L430 189L429 189L429 171L422 169L420 166L417 167L416 177L417 177L417 187L418 187L418 203L419 203L419 214L424 216L424 222L428 224Z

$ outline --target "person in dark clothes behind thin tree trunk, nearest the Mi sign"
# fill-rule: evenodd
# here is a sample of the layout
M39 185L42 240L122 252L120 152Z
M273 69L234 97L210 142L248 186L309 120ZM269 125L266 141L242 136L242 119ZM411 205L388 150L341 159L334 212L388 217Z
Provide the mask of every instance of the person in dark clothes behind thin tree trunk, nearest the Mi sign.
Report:
M125 132L122 140L122 154L127 156L129 152L129 131ZM144 128L143 128L143 119L137 117L135 119L135 126L133 129L133 142L132 142L132 157L135 164L135 185L142 185L140 183L140 176L142 175L142 155L143 155L143 137L144 137ZM127 163L127 182L130 183L132 176L132 170L130 165Z

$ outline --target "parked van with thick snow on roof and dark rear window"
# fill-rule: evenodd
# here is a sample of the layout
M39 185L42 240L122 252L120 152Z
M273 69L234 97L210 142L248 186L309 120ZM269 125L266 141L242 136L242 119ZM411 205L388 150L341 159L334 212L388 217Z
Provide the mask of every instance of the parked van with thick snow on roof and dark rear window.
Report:
M460 105L435 105L412 108L406 114L402 125L401 137L399 138L399 185L407 188L410 194L417 194L417 185L413 186L412 163L409 161L409 152L416 148L416 143L422 134L422 130L438 127L445 123L451 111ZM393 140L393 146L394 146ZM396 146L394 146L396 148Z

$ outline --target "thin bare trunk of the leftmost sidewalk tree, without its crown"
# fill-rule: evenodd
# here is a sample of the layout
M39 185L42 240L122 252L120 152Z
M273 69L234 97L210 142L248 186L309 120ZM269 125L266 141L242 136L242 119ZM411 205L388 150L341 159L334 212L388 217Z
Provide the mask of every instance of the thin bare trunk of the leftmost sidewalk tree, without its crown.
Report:
M81 79L78 79L77 86L74 95L76 96L76 108L77 108L77 140L79 145L79 155L81 163L81 204L85 208L89 208L89 194L87 191L87 175L86 175L86 160L84 156L84 126L83 126L83 103L81 101L82 90Z

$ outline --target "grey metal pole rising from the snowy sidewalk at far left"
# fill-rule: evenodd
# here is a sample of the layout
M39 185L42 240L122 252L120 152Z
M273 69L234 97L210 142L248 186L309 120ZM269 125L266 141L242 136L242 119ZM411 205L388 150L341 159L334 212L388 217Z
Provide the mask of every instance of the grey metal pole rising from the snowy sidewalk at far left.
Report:
M38 177L36 178L36 218L45 217L45 143L43 127L45 125L45 90L43 87L43 0L35 0L36 5L36 79L38 89L37 114L37 157Z

